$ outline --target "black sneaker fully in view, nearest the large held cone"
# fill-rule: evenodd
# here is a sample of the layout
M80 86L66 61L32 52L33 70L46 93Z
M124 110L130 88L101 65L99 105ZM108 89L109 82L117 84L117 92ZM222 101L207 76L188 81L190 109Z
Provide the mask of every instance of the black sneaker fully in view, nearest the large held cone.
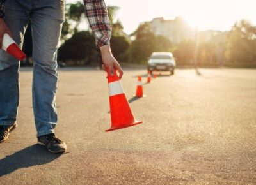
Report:
M42 135L37 140L38 144L45 146L52 153L64 153L67 150L65 142L57 138L54 133Z

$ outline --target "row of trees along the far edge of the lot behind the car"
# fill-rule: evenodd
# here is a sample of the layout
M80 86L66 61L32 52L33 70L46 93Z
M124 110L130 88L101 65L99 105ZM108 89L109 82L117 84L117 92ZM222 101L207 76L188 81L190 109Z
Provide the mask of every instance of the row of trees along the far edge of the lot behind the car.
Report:
M236 23L232 31L226 34L212 36L211 40L198 41L183 40L179 44L172 45L168 38L155 36L150 25L141 24L131 34L132 41L123 32L124 27L119 20L115 20L117 6L109 6L108 13L112 26L111 48L118 61L129 63L147 62L152 52L173 52L177 58L177 64L200 66L223 64L225 52L228 65L253 65L256 61L256 27L246 21ZM99 61L98 50L95 48L95 39L88 31L78 32L84 14L83 3L68 4L66 21L63 24L62 41L66 41L59 50L59 59L62 61L84 61L90 63ZM207 33L206 33L207 34ZM221 36L223 36L221 38ZM225 45L225 48L224 48Z

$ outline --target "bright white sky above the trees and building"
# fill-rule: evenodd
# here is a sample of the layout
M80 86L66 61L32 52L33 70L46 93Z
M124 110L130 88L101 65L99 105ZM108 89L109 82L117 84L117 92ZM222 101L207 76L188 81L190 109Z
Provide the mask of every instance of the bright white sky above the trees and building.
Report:
M77 0L67 0L72 3ZM119 6L116 15L126 33L132 33L141 22L154 17L173 19L184 17L191 26L201 30L228 30L236 20L246 19L256 24L256 0L105 0Z

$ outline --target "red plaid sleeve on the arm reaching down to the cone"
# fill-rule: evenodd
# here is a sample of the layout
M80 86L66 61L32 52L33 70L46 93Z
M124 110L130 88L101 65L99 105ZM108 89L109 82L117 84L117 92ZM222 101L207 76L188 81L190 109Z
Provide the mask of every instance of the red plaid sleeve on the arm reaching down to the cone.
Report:
M84 0L84 8L97 48L110 45L112 30L104 0Z

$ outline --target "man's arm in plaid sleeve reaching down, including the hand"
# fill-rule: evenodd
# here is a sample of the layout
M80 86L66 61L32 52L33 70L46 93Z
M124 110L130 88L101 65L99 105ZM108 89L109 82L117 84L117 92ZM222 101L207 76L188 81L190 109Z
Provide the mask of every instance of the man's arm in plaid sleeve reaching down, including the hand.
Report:
M109 68L113 75L113 70L116 68L119 72L119 78L122 78L122 68L115 57L113 57L110 48L112 30L104 0L84 0L84 8L93 35L95 36L96 46L97 48L100 48L102 54L104 70Z

